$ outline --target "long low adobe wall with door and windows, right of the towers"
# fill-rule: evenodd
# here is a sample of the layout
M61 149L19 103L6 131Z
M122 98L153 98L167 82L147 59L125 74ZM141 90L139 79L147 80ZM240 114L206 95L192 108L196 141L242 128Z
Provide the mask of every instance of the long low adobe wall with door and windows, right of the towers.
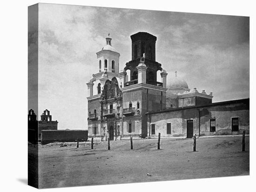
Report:
M200 110L200 120L199 120ZM239 131L232 131L231 118L239 118ZM147 115L148 135L163 137L187 136L187 120L193 119L193 134L223 135L249 134L249 99L240 102L226 102L205 107L174 109ZM216 119L216 131L210 132L210 119ZM155 135L151 135L151 124L155 124ZM167 134L167 123L171 123L171 134Z

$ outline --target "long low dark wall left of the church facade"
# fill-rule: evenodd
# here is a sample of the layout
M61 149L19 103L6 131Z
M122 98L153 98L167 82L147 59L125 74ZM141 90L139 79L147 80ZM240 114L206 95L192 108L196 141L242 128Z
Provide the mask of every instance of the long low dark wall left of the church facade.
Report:
M87 141L88 130L42 130L41 144L51 142L74 142L76 140Z

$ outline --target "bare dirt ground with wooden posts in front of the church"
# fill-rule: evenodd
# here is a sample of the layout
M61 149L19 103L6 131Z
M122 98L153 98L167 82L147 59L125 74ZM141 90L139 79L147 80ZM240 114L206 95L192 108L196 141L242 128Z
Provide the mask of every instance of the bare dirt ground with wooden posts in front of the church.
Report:
M39 188L249 175L249 137L156 139L39 146ZM148 175L151 175L149 176Z

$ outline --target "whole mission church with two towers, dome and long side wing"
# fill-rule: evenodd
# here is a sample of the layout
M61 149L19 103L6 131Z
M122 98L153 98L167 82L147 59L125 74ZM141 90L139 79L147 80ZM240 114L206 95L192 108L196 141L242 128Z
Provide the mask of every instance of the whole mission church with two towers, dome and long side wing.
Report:
M213 103L212 92L189 89L177 71L167 82L155 60L156 39L147 32L131 35L132 60L119 72L120 53L108 35L96 53L99 69L87 83L89 137L249 134L249 98Z

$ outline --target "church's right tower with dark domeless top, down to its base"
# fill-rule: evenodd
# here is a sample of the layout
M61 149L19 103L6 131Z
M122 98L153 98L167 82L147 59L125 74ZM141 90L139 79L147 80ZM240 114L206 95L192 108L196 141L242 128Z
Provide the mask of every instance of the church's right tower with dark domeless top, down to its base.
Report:
M154 35L138 32L131 35L131 40L132 60L126 63L124 70L119 73L120 82L124 85L121 89L123 137L133 135L145 138L151 130L146 113L166 107L167 73L161 64L155 61ZM157 82L157 79L162 82Z

